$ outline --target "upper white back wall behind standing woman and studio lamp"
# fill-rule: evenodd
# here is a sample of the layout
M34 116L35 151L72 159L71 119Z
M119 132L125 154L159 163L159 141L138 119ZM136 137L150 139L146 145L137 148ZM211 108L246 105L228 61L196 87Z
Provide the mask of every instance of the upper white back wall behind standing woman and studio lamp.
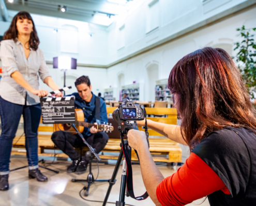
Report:
M17 12L9 11L10 20L0 21L0 35L9 28L11 17ZM68 56L76 58L79 64L106 65L108 32L104 26L86 22L64 20L32 14L46 61L53 57ZM58 31L53 33L54 29ZM92 37L89 37L92 34Z

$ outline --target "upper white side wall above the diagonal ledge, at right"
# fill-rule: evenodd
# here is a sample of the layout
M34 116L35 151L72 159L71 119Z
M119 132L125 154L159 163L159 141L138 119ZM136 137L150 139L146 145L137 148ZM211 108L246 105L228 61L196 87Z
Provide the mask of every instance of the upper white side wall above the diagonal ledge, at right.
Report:
M125 58L243 2L246 0L140 0L109 29L109 63ZM125 46L119 48L119 42L116 40L123 26Z

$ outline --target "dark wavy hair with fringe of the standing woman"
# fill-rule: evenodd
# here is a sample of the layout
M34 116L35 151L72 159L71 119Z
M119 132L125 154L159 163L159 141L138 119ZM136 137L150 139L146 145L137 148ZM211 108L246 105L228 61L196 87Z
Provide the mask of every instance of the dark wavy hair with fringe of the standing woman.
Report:
M4 34L4 37L3 39L4 40L7 40L7 39L13 39L14 41L17 41L17 37L18 37L18 30L17 30L17 26L16 26L16 23L19 19L28 19L28 20L31 20L32 23L33 23L33 31L31 32L31 35L30 35L30 39L29 39L29 47L31 47L33 50L37 50L38 48L38 45L40 43L39 41L39 38L37 36L37 32L36 32L36 27L35 27L35 24L34 24L34 21L31 17L31 15L26 12L26 11L20 11L19 13L17 13L12 21L11 21L11 25L9 27L9 29L5 32Z

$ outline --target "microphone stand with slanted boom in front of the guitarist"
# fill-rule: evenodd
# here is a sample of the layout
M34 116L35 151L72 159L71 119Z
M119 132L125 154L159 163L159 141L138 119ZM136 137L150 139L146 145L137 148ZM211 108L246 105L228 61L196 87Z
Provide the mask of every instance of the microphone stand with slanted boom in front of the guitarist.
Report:
M110 180L95 180L93 173L92 173L92 161L94 159L94 157L96 157L99 161L101 161L100 157L98 156L97 153L95 153L94 149L92 148L91 145L89 145L86 140L84 139L83 135L78 131L78 129L76 128L76 126L74 124L72 124L72 127L77 131L77 133L79 134L79 136L81 137L81 139L83 140L84 144L87 145L87 147L89 148L89 151L86 152L86 156L89 158L89 174L87 176L86 180L83 179L72 179L72 182L88 182L88 186L86 188L86 191L84 193L84 196L88 196L89 195L89 188L90 186L94 183L94 182L109 182Z

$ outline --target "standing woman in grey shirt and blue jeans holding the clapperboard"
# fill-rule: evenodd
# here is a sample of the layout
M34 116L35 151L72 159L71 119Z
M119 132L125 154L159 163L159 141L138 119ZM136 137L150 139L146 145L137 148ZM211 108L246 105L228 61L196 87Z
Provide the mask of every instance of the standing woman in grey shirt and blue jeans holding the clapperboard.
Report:
M37 130L41 108L39 96L48 91L39 90L38 73L51 89L59 87L50 77L31 15L26 11L14 16L1 42L3 78L0 83L0 190L8 190L9 162L12 141L18 129L21 114L24 119L26 156L29 178L47 181L38 169ZM63 96L62 93L56 96Z

